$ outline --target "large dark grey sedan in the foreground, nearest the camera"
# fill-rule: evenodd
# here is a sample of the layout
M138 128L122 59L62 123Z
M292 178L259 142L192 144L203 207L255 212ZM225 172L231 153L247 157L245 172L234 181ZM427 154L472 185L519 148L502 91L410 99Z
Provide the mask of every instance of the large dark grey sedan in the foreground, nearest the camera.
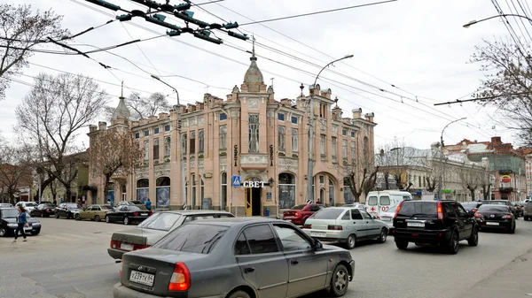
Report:
M348 250L270 218L196 220L122 260L114 298L285 298L323 289L340 297L355 273Z

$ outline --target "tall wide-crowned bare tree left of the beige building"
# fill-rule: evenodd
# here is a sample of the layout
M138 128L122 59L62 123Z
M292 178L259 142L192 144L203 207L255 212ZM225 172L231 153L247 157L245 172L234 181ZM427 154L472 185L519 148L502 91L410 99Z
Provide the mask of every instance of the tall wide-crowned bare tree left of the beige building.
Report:
M79 151L75 138L80 129L88 126L108 102L105 90L92 79L82 75L45 73L35 78L35 86L16 108L19 127L28 143L35 146L40 166L66 188L77 175L78 157L66 158Z

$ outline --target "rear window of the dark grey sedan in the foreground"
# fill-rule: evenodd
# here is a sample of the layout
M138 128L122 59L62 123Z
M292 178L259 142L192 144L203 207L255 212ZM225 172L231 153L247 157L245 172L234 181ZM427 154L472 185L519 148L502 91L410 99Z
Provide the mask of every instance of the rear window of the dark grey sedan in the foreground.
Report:
M181 225L155 243L153 248L208 254L225 231L227 227L221 225Z

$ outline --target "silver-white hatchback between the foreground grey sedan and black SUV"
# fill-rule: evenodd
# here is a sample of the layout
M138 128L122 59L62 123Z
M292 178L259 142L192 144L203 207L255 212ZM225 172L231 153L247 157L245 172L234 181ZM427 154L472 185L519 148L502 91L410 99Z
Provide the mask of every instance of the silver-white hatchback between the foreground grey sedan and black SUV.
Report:
M387 225L372 217L366 210L349 207L331 207L319 210L303 225L303 232L320 241L345 243L348 249L358 241L386 242Z

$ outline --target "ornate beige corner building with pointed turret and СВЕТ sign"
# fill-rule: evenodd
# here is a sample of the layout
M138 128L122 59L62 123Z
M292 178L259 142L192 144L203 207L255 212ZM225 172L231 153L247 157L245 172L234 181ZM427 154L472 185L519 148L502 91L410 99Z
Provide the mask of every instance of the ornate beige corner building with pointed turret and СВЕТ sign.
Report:
M310 86L305 96L301 84L301 96L277 101L273 88L264 84L257 58L250 60L243 83L225 99L206 94L200 103L179 107L179 142L177 107L129 122L123 97L111 126L90 127L93 135L129 126L144 149L141 166L129 177L114 180L115 201L149 197L158 209L181 209L186 204L188 209L231 210L237 216L264 215L266 209L275 215L306 202L310 96L317 117L315 197L332 205L352 200L343 178L356 161L373 157L373 113L363 116L356 109L352 118L342 118L331 89L321 90L319 85ZM240 187L233 187L233 182L240 182ZM104 201L103 179L91 176L90 185L98 187L96 200Z

